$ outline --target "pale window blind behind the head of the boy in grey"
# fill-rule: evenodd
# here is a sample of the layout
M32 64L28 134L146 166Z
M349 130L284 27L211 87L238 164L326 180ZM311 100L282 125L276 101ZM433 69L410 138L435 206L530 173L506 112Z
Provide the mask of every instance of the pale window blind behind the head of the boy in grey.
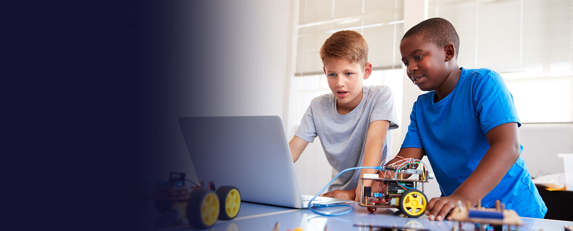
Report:
M374 70L399 69L402 23L402 0L301 0L296 75L322 73L320 47L338 30L355 30L363 35Z

